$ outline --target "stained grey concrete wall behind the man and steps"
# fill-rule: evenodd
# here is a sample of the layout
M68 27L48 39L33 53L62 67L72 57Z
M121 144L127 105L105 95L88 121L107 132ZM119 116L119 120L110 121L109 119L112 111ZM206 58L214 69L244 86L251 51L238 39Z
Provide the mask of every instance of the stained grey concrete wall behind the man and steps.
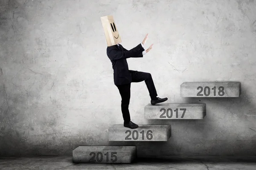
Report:
M122 45L146 33L153 49L128 59L150 72L168 102L206 103L202 120L144 119L150 97L131 85L137 124L170 124L168 142L108 142L122 124L100 17L113 15ZM1 0L0 155L71 155L79 145L137 145L138 156L256 154L256 1ZM241 82L240 98L186 99L180 84Z

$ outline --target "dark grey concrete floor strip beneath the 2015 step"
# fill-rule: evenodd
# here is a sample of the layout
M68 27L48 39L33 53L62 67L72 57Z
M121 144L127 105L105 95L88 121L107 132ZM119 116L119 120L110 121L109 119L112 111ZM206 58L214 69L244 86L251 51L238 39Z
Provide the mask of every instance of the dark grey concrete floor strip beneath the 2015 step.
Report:
M154 161L153 161L154 160ZM0 157L0 170L256 170L256 156L140 159L132 164L74 164L71 156Z

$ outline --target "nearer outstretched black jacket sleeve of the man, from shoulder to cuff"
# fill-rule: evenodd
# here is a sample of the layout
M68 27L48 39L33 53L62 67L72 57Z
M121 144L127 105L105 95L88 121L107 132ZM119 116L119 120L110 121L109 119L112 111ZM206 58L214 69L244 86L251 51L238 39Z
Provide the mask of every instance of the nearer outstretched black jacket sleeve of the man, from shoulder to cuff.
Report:
M141 44L139 44L131 50L126 50L124 48L124 51L120 51L116 48L111 48L107 51L107 55L111 60L127 59L131 57L143 57L143 55L140 55L142 54L142 51L144 51L144 48L141 46Z

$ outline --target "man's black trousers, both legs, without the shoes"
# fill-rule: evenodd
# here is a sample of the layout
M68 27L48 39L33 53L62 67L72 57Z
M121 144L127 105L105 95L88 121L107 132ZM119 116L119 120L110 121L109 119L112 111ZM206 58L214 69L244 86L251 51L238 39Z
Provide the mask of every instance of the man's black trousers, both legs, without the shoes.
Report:
M148 88L149 96L151 97L151 100L154 100L157 96L157 91L154 86L154 82L151 77L151 74L141 72L141 71L131 71L130 74L132 77L132 82L145 81ZM126 85L116 85L116 86L122 98L121 110L122 110L122 116L123 116L124 122L125 123L130 122L131 117L130 117L130 112L128 108L129 108L130 97L131 97L131 91L130 91L131 83Z

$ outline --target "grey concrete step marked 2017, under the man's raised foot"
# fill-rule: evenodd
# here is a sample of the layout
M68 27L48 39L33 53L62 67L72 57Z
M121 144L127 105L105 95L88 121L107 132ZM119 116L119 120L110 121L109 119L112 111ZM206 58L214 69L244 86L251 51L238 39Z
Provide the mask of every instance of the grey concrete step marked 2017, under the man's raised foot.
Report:
M204 119L205 104L161 103L144 108L145 119Z

